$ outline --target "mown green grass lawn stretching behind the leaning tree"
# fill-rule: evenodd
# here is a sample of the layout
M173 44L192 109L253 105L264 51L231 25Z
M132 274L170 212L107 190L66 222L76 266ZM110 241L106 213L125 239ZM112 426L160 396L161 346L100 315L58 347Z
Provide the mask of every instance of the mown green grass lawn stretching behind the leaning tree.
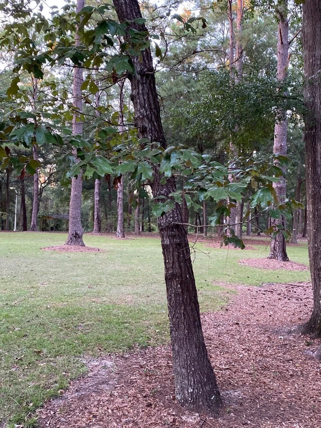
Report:
M65 234L0 233L0 425L36 426L33 411L85 371L82 358L168 340L160 241L85 235L103 253L56 253ZM193 267L202 311L226 302L212 281L260 285L309 279L308 272L258 270L238 259L254 250L197 244ZM289 247L308 264L307 247ZM8 422L9 421L9 422Z

